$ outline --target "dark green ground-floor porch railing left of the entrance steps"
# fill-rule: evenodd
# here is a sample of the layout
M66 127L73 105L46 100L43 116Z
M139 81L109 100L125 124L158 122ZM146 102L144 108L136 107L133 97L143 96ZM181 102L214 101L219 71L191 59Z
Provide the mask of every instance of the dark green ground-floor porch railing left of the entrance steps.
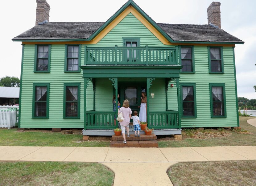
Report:
M114 129L118 127L114 125L115 112L104 111L86 111L86 129Z

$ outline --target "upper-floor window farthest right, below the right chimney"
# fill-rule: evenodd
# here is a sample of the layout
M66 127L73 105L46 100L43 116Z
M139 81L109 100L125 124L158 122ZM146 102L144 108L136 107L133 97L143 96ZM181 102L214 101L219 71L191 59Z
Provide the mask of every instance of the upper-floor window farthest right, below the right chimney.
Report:
M222 47L208 47L209 73L224 73Z

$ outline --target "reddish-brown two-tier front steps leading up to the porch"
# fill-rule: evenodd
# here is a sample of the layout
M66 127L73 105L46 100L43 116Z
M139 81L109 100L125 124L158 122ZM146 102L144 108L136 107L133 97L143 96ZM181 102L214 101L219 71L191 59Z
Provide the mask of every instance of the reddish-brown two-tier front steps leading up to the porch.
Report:
M112 135L110 147L158 147L156 135L141 134L140 137L135 137L134 134L128 138L126 135L126 144L123 143L123 136Z

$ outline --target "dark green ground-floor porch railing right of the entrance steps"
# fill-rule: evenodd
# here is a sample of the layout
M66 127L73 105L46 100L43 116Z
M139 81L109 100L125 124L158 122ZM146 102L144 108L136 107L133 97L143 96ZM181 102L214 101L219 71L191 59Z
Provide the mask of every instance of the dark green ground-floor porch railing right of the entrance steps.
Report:
M180 128L178 111L149 112L148 127L154 129L174 129Z

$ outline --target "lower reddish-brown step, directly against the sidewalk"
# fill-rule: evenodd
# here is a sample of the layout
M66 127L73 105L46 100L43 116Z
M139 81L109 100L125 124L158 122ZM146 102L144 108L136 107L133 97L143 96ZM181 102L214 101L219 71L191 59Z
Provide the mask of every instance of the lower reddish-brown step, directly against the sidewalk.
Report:
M124 144L123 141L111 141L110 147L158 147L157 140L148 140L148 141L126 141Z

